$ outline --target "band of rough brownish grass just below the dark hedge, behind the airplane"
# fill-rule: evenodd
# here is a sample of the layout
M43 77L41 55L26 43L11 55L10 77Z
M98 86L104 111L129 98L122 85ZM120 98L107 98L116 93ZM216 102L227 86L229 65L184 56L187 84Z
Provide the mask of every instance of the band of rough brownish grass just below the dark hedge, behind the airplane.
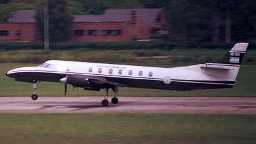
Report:
M184 65L187 63L207 63L219 60L227 53L223 49L137 49L137 50L16 50L0 51L0 63L43 63L47 60L71 60L97 63L116 63L126 65L143 65L170 67L170 65ZM256 50L248 50L244 61L256 64ZM176 56L173 58L155 59L141 58L145 56ZM182 56L177 58L177 56Z

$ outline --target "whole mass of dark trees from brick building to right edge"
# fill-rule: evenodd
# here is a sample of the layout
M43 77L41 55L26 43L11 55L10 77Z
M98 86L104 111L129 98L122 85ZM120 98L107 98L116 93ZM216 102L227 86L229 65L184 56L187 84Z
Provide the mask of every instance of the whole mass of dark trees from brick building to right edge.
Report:
M214 41L225 40L225 20L231 17L231 40L249 40L256 36L256 1L168 1L164 6L172 40Z

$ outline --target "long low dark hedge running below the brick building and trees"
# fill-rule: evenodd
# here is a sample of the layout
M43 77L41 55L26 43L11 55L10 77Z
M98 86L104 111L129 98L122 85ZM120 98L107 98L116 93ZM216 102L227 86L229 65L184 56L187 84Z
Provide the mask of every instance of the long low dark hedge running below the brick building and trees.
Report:
M132 49L230 49L235 42L231 43L211 43L211 42L60 42L51 43L52 50L71 49L92 49L92 50L132 50ZM20 49L44 49L44 43L24 43L24 42L0 42L0 51L20 50ZM256 49L256 42L250 42L249 49Z

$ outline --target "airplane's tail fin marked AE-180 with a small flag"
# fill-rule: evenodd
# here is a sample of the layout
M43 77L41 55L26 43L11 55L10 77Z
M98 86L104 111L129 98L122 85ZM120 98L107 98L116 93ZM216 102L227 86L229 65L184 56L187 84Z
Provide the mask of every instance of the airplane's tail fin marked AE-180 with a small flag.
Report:
M201 68L205 69L205 74L236 81L247 47L248 43L237 43L223 58L213 63L205 63Z

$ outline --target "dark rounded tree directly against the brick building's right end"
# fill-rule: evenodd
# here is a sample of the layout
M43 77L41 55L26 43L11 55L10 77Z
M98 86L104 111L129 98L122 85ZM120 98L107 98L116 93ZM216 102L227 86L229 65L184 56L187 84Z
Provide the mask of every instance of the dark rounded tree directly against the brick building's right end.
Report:
M172 40L202 41L213 20L211 4L206 0L168 1L164 11Z

